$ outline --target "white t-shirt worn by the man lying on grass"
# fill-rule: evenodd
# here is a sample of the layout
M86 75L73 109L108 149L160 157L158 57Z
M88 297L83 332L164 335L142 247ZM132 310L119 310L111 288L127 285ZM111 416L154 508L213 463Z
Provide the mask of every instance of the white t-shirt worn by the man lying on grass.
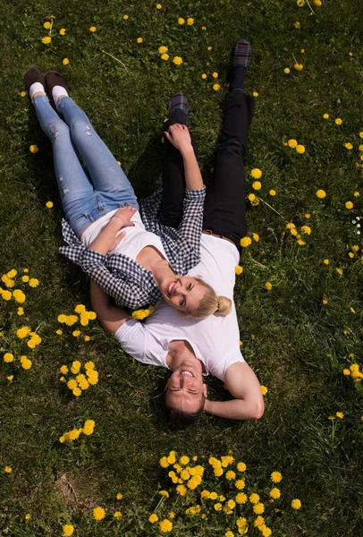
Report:
M234 268L239 262L237 248L213 235L202 235L201 261L190 270L202 277L216 294L233 298ZM229 315L210 315L206 319L186 320L164 301L156 304L145 323L128 320L115 333L123 349L136 360L168 368L166 357L171 341L185 339L203 363L205 374L224 380L234 362L244 362L240 350L240 331L234 303Z

